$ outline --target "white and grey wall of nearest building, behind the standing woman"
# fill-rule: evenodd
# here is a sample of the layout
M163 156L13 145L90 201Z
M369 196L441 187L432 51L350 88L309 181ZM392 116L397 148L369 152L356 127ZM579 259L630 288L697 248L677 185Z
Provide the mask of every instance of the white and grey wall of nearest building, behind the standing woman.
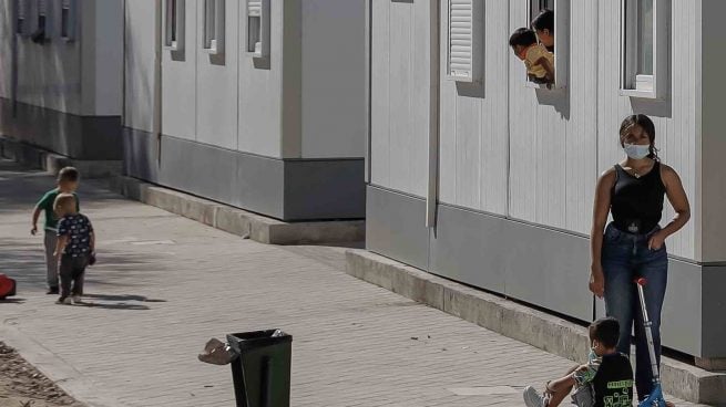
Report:
M624 158L622 119L647 114L661 157L682 176L693 212L667 241L664 344L725 357L719 337L726 328L708 323L726 311L709 294L726 284L726 217L717 209L726 185L715 170L723 166L715 157L726 148L714 114L723 81L706 64L719 66L723 53L704 45L707 38L720 44L714 34L719 24L706 17L718 15L723 2L658 2L669 4L663 48L669 75L665 96L654 100L620 90L618 1L555 1L569 8L567 23L555 28L555 38L567 35L562 60L569 74L553 90L526 84L524 65L508 45L509 35L529 24L528 0L480 1L483 27L472 49L481 52L482 66L473 82L447 75L449 0L436 2L438 15L427 13L426 1L369 3L368 249L589 321L603 312L602 302L593 310L587 291L595 184ZM430 35L439 39L438 55L429 55ZM432 76L438 98L428 97ZM663 223L673 215L666 204Z

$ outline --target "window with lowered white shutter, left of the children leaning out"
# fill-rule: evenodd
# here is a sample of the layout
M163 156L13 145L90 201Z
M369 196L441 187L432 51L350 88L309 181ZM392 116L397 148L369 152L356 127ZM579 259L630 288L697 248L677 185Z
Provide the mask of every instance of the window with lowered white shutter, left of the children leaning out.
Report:
M447 77L482 80L483 4L480 0L447 0Z

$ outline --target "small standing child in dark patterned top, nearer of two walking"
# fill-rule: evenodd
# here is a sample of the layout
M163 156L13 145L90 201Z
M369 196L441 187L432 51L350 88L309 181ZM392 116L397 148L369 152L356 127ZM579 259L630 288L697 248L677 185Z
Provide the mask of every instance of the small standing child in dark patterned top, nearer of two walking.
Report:
M89 261L93 258L95 236L93 226L85 215L76 210L72 194L60 194L53 205L58 221L58 246L54 255L61 259L61 296L57 304L81 303L83 276Z

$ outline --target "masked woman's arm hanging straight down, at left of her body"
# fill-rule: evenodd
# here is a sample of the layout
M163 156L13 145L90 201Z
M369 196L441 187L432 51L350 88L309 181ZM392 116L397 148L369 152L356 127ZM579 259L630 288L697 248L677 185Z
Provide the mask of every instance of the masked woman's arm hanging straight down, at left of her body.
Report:
M603 251L603 230L610 213L610 191L615 184L615 171L611 168L597 179L595 202L593 205L592 230L590 231L590 291L602 298L605 293L605 278L601 262Z

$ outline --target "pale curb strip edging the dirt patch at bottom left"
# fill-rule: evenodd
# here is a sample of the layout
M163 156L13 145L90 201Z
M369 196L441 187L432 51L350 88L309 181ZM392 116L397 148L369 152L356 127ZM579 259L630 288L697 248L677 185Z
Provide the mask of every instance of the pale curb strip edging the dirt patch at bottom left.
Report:
M95 385L82 373L20 330L7 324L0 325L0 337L63 392L85 406L127 407L115 398L100 396Z

